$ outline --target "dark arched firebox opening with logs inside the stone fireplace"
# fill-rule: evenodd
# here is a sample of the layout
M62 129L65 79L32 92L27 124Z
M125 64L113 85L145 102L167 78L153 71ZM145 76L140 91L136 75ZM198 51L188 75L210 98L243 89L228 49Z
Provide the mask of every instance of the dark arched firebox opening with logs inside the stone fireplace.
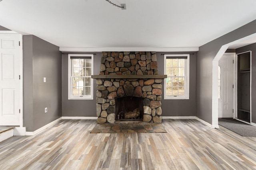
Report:
M143 100L134 96L116 98L116 121L143 120Z

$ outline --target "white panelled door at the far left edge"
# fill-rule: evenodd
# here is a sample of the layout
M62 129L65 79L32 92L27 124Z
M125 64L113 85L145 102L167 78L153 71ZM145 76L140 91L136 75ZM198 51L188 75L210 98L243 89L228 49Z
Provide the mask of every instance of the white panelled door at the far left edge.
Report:
M20 125L22 35L0 33L0 125Z

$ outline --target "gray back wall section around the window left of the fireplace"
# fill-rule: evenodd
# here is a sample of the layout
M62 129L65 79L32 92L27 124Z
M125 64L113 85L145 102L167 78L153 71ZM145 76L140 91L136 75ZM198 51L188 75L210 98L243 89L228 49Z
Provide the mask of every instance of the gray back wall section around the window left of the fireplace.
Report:
M102 53L74 53L95 54L93 74L100 74L100 60ZM93 100L68 100L68 53L62 54L62 116L95 117L96 116L96 79L93 79Z

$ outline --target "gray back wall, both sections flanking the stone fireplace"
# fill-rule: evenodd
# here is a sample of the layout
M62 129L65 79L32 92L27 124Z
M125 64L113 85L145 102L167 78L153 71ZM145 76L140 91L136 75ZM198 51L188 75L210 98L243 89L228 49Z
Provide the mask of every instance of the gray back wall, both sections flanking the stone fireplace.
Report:
M72 52L70 52L71 54ZM194 53L194 52L186 52ZM79 53L77 53L79 54ZM92 53L84 53L92 54ZM102 53L94 55L94 75L100 72ZM158 74L164 74L164 53L156 53ZM172 53L166 53L172 54ZM162 82L164 87L164 82ZM62 116L96 116L96 80L94 80L94 100L68 100L68 53L62 54ZM163 89L164 92L164 89ZM190 99L164 100L162 95L162 116L196 115L196 54L190 55Z

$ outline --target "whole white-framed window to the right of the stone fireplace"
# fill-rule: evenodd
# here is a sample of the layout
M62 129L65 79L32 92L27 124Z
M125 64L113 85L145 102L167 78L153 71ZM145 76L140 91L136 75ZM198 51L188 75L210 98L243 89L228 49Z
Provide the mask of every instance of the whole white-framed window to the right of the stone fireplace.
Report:
M189 54L164 55L164 99L189 99Z

